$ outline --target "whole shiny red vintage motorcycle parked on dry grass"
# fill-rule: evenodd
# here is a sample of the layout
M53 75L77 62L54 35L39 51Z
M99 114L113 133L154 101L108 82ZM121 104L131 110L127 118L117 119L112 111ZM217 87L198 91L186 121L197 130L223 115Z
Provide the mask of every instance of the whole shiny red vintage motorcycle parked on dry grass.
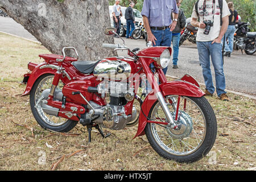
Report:
M117 35L113 27L105 33ZM138 123L135 137L146 134L164 158L191 163L207 155L216 139L216 117L192 76L167 81L162 68L170 62L171 48L131 51L119 44L103 46L126 50L130 57L77 61L76 49L65 47L63 56L39 55L43 63L28 63L31 73L24 75L23 96L30 94L32 114L39 125L68 132L79 122L87 127L90 142L92 127L105 138L109 134L102 128L121 130ZM75 50L77 58L65 56L67 49ZM142 100L137 92L144 75L152 90Z

